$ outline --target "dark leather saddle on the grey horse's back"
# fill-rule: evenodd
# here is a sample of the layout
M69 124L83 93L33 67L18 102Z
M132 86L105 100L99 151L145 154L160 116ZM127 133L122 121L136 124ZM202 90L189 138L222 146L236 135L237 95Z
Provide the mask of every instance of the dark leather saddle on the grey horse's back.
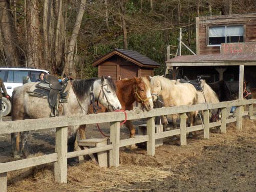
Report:
M62 82L53 76L45 75L45 79L35 85L36 89L29 92L31 96L48 99L51 107L51 117L59 115L59 102L68 102L68 95L70 89L70 83L68 86L68 78L65 78Z

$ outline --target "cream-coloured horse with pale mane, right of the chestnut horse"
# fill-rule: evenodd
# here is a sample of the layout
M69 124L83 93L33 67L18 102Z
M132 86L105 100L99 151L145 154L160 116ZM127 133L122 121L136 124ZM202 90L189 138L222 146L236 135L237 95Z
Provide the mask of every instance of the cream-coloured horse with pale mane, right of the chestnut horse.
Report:
M163 76L151 77L151 95L154 102L157 99L161 99L163 106L197 104L197 90L193 85L186 85L186 83L175 84L173 80ZM196 122L196 115L197 112L188 113L190 126L193 126L193 123ZM177 129L177 123L174 123L174 126L174 129Z

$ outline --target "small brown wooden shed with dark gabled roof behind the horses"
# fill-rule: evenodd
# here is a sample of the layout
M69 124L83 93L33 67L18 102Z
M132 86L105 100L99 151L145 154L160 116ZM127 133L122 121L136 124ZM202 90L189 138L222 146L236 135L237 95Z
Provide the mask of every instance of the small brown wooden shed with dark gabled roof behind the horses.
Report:
M114 49L92 63L98 67L98 76L111 76L114 80L153 76L160 64L137 51Z

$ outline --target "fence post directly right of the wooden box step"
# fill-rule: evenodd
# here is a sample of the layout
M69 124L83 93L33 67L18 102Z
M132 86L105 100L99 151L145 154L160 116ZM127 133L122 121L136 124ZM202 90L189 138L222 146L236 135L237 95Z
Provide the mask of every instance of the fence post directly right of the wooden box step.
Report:
M119 141L120 141L120 122L110 123L110 142L113 150L110 150L110 166L119 166Z

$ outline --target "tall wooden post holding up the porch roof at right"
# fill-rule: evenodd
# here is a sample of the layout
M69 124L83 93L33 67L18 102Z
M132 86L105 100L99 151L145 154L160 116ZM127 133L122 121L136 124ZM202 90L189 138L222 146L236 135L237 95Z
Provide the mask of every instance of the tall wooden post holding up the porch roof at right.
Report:
M244 66L239 66L239 100L243 99L243 84L244 84ZM238 106L236 109L236 116L237 116L237 130L242 130L242 123L243 123L243 106Z

